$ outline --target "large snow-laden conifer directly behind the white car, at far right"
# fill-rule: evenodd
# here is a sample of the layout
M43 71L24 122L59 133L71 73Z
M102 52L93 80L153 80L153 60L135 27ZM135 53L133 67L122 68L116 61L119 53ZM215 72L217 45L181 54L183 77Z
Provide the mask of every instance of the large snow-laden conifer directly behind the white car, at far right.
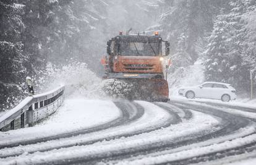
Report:
M238 90L249 88L249 70L254 63L255 41L243 15L251 12L253 1L231 1L231 11L216 17L205 54L207 80L231 83ZM249 41L250 40L250 41Z

